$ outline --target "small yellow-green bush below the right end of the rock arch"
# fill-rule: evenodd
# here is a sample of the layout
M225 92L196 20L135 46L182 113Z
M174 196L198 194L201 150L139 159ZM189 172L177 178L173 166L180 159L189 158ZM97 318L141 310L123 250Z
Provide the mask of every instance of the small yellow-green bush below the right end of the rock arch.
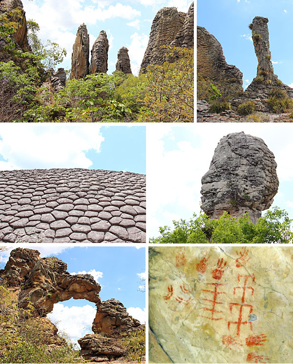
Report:
M145 330L137 330L126 334L121 345L126 350L126 361L142 363L146 355Z

